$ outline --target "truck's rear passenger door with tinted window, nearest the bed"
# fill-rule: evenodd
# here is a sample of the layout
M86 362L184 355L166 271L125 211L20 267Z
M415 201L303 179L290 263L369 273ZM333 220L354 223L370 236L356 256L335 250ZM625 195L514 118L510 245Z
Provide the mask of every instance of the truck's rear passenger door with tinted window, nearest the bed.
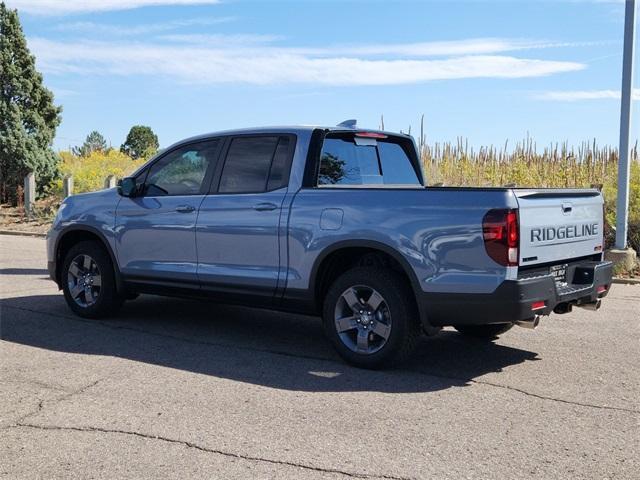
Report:
M295 136L229 138L196 228L202 288L271 299L280 276L282 203Z

